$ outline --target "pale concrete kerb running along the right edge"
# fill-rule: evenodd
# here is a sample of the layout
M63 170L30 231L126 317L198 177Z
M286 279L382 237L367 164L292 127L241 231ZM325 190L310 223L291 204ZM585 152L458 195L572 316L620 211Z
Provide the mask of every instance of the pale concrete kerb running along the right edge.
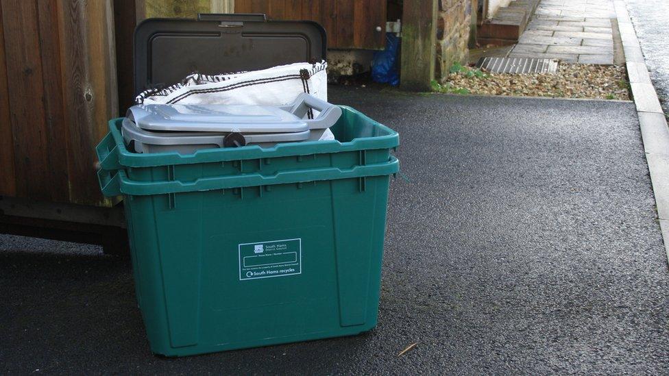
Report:
M627 5L623 0L615 0L613 4L616 7L632 97L639 116L657 216L669 258L669 128L655 88L650 82L644 53L627 12Z

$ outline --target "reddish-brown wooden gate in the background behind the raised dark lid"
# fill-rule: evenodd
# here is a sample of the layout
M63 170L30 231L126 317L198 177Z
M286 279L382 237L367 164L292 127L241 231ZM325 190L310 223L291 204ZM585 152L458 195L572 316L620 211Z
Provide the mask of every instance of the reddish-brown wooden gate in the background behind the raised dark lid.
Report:
M311 20L328 33L328 48L383 49L387 0L235 0L235 13Z

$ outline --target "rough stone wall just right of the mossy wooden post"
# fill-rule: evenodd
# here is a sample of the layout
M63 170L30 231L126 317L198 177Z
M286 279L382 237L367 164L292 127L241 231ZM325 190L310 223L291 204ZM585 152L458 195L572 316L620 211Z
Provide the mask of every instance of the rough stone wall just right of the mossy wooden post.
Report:
M467 62L470 21L476 3L476 0L441 0L441 9L437 14L435 79L448 75L454 62Z

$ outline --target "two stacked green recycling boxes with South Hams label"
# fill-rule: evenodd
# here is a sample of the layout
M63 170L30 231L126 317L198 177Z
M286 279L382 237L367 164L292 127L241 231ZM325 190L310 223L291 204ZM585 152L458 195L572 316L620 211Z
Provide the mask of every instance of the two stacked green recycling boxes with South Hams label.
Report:
M376 325L390 151L398 134L351 108L337 140L192 155L97 147L123 195L151 351L168 356L358 334Z

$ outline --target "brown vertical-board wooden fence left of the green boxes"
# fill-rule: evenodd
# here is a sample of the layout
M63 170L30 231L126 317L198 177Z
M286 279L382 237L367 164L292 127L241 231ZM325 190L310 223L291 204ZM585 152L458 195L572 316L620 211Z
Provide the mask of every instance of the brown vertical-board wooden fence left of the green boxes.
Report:
M110 0L0 1L0 195L109 205L94 146L117 116Z

